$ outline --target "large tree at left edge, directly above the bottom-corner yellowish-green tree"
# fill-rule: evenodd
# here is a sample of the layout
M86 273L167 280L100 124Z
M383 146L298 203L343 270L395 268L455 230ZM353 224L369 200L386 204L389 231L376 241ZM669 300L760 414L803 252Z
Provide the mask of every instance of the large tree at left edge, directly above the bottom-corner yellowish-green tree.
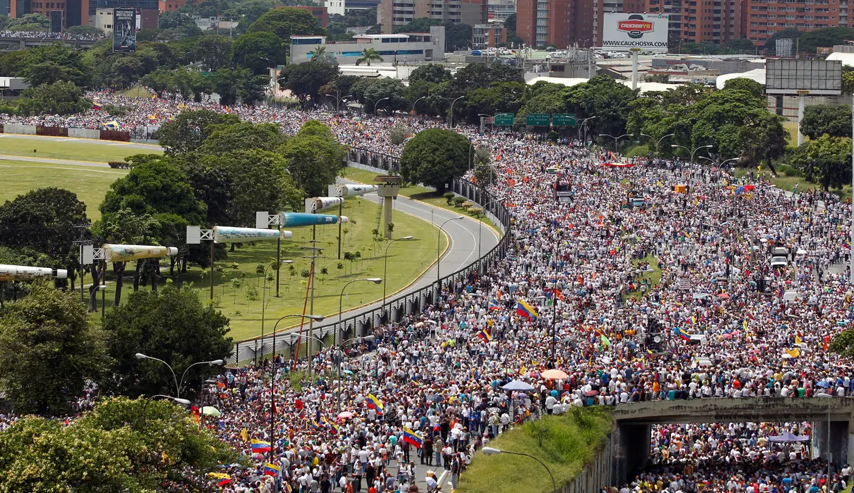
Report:
M109 362L104 333L89 325L85 307L48 283L6 306L0 345L0 388L20 414L68 413Z

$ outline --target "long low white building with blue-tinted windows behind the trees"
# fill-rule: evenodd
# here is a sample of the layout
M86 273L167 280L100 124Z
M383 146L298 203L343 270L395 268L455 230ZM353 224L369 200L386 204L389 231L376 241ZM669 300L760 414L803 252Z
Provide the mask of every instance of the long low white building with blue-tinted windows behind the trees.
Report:
M339 65L355 65L362 51L373 48L384 63L441 62L445 52L445 27L430 26L430 32L360 34L354 41L326 41L325 36L291 36L290 62L311 60L311 52L325 46ZM376 62L375 62L376 63Z

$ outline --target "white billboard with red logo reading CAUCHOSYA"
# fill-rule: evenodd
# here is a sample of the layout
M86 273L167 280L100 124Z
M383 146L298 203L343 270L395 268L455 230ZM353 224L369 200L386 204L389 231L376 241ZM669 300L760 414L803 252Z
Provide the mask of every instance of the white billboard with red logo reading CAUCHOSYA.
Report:
M602 49L667 53L668 16L658 14L605 14Z

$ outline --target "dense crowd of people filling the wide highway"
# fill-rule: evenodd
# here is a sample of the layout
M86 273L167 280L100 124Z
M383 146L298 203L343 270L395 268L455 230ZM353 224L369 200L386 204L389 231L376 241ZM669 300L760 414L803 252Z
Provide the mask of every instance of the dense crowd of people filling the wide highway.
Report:
M414 134L445 126L108 93L92 99L131 107L119 119L128 128L201 108L276 122L288 133L318 119L343 144L390 155L402 149L390 143L393 127ZM92 109L5 118L97 128L112 117ZM849 203L819 191L782 192L754 171L627 159L571 136L554 144L499 128L454 130L493 156L491 191L514 219L510 252L344 352L221 376L204 398L222 416L208 425L254 464L212 478L224 491L432 492L455 486L497 434L573 406L854 394L851 361L828 347L851 326ZM772 267L775 256L785 265ZM549 367L566 377L544 378ZM502 390L512 380L534 390ZM658 426L649 467L628 484L602 486L615 493L845 488L850 468L828 477L809 442L772 442L781 431L811 433L798 423Z

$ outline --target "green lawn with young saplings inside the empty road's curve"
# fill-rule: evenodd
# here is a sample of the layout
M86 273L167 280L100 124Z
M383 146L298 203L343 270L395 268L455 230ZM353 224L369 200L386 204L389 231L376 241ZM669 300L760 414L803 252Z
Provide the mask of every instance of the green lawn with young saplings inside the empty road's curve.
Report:
M338 312L339 296L343 285L353 279L365 277L383 278L387 296L400 291L413 280L418 279L434 261L436 261L436 241L440 240L441 250L447 247L447 238L438 238L439 229L425 220L412 215L395 213L394 237L412 235L411 240L402 240L389 246L388 273L383 275L383 254L388 243L374 242L372 230L377 227L377 204L366 199L356 198L345 202L343 214L350 222L342 226L342 260L338 268L337 226L319 226L317 228L318 248L324 249L323 258L316 261L314 314L331 315ZM310 246L312 228L293 228L293 238L282 242L282 260L292 260L290 266L283 266L280 273L279 297L276 297L275 277L266 282L265 332L272 330L276 320L285 314L301 314L306 302L307 273L311 261L306 258ZM343 252L360 252L359 261L344 261ZM274 242L245 244L228 253L225 261L218 261L213 276L213 296L216 306L231 319L229 336L236 341L259 336L261 333L261 298L264 290L264 277L256 273L256 268L269 265L276 258ZM291 268L293 267L293 268ZM326 273L323 273L323 269ZM273 273L272 269L267 270ZM162 269L164 276L168 269ZM111 271L107 274L107 308L114 299L114 284ZM190 267L183 282L191 282L199 291L203 301L210 299L210 278L202 273L200 267ZM166 279L163 279L166 282ZM88 279L85 282L91 282ZM173 283L177 282L177 275ZM369 282L354 283L348 287L343 299L345 309L358 307L383 298L383 285ZM129 287L131 288L129 290ZM141 289L150 289L148 287ZM123 300L132 290L125 283ZM306 313L310 309L306 308ZM97 315L100 317L100 315ZM297 319L284 320L278 328L293 326Z

